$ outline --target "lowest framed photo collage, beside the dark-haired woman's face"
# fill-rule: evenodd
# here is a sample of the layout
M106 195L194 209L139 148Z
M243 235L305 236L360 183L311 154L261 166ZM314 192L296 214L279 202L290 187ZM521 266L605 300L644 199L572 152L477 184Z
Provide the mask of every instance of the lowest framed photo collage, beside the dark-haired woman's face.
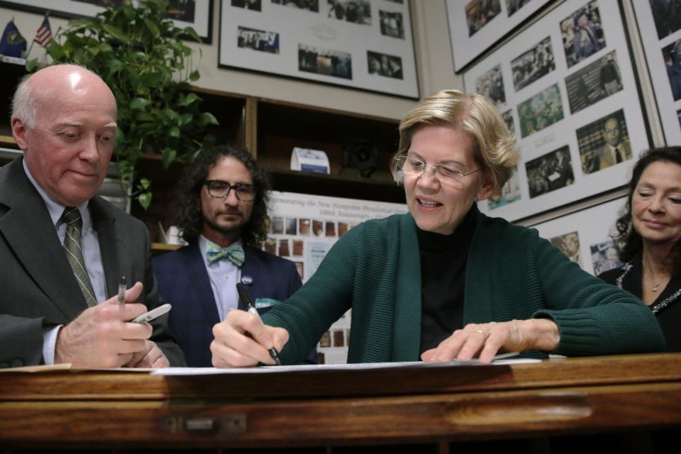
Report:
M539 236L577 262L582 270L597 276L620 267L619 248L612 236L626 197L619 197L576 213L536 224Z

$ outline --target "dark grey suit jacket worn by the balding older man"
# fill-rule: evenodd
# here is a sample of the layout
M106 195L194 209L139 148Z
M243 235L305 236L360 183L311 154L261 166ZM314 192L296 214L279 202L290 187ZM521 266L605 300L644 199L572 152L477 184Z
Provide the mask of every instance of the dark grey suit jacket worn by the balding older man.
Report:
M87 309L66 260L52 219L26 177L19 157L0 169L0 367L43 362L43 328L67 324ZM150 265L144 224L94 196L89 203L99 236L106 294L113 297L121 275L140 281L140 302L160 304ZM167 317L153 321L152 340L171 365L184 365L182 351L167 328Z

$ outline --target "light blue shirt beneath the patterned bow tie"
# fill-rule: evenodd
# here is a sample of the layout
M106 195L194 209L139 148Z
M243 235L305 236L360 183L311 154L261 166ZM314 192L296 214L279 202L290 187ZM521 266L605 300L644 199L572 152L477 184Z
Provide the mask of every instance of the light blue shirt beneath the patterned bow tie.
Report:
M236 283L241 280L241 268L234 265L230 260L216 260L209 263L206 260L208 243L209 240L205 236L199 235L201 257L204 259L204 265L206 265L215 304L218 306L218 316L222 321L229 311L238 308L239 295L236 292ZM238 240L237 243L241 243L241 240Z

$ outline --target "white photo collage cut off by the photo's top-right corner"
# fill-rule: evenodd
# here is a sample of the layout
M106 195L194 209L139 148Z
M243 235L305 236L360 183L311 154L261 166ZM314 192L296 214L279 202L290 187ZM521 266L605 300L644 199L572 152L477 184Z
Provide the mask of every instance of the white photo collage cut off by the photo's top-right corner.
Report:
M634 1L667 145L681 145L681 1Z

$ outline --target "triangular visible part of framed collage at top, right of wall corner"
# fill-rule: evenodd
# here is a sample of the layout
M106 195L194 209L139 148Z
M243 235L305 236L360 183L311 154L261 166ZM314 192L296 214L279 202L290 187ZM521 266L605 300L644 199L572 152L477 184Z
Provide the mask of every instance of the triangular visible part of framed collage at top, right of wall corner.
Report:
M446 0L454 70L511 33L550 0Z

